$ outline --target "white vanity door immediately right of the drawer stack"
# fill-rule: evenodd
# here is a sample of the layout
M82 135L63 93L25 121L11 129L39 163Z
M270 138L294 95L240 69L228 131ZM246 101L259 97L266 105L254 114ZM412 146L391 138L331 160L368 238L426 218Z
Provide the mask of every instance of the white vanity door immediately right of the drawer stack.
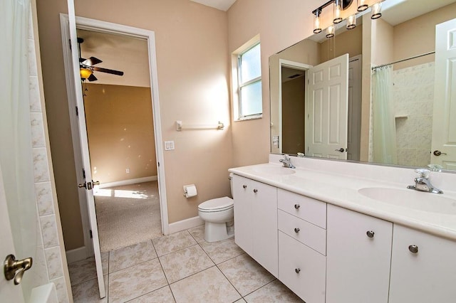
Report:
M393 223L328 205L327 224L326 303L388 302Z

